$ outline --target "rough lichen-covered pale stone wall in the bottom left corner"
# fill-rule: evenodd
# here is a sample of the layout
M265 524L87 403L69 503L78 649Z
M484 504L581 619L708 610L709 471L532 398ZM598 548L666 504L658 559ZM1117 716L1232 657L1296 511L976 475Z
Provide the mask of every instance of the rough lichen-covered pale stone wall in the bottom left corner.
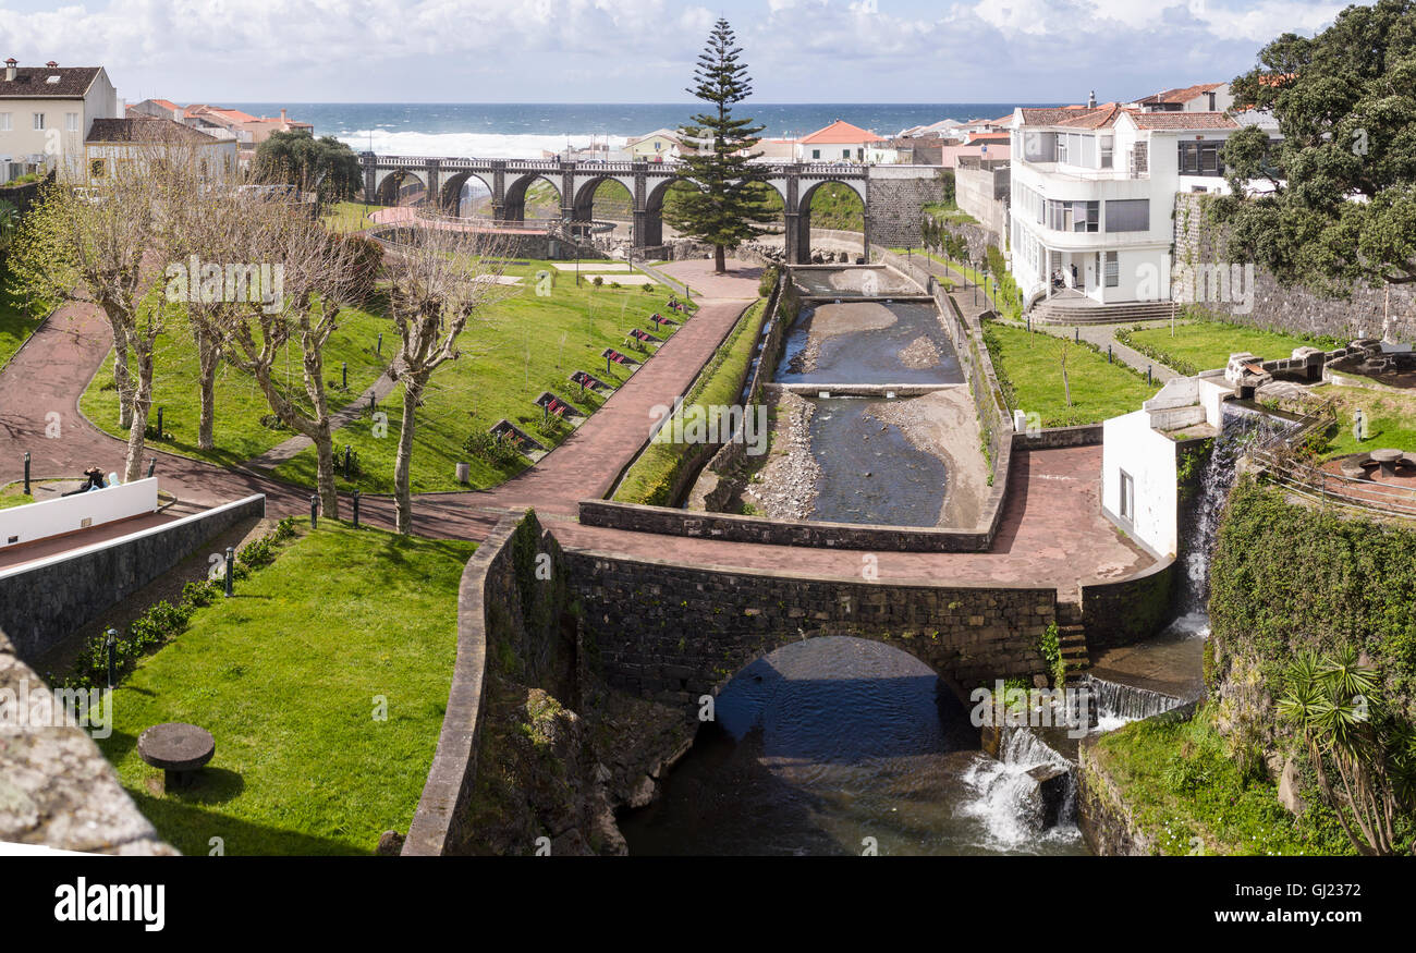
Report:
M30 724L34 712L58 707L0 632L0 841L129 857L176 854L82 728L54 718Z

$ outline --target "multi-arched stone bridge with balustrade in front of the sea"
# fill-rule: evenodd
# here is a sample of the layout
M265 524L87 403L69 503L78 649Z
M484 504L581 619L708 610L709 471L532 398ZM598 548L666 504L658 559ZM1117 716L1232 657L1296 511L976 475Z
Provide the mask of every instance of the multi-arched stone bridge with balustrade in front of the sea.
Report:
M561 195L561 219L588 222L593 218L595 193L606 181L617 181L633 198L634 248L664 244L664 195L683 180L680 163L651 161L564 161L558 159L450 159L426 156L379 156L362 153L364 200L395 204L399 193L419 183L430 201L449 214L459 214L462 190L479 178L491 193L491 217L497 221L525 221L527 188L548 181ZM804 263L811 253L811 197L826 183L841 183L854 191L865 210L864 246L906 245L920 236L920 217L927 201L942 198L943 180L937 166L854 166L828 163L765 164L766 183L782 197L789 262Z

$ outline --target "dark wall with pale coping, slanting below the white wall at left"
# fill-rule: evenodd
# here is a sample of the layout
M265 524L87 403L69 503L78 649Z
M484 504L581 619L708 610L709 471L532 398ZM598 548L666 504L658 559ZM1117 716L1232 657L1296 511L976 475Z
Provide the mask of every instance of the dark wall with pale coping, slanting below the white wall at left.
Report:
M71 555L0 571L0 629L35 660L79 626L195 552L236 523L265 515L256 494Z

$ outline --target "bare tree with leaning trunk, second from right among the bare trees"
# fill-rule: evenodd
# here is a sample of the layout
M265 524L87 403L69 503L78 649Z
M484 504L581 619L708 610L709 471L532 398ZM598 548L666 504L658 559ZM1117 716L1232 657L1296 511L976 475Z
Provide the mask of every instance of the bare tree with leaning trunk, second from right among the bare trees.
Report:
M324 347L354 299L358 251L327 232L297 198L252 193L236 201L242 224L229 242L234 256L262 273L269 268L275 287L259 300L232 302L232 319L222 329L225 358L256 381L286 426L314 443L320 506L337 518ZM286 348L299 353L303 394L287 392L276 380L276 361Z

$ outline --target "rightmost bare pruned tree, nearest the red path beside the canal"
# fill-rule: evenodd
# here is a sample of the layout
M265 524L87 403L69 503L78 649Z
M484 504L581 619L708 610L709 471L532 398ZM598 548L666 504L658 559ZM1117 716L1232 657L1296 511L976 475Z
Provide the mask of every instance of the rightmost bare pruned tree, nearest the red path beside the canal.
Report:
M404 415L394 460L398 532L412 531L409 474L418 406L433 372L462 355L467 323L484 317L489 304L507 297L508 290L498 280L506 261L503 239L440 228L413 229L385 258L388 310L399 337L389 374L404 384Z

